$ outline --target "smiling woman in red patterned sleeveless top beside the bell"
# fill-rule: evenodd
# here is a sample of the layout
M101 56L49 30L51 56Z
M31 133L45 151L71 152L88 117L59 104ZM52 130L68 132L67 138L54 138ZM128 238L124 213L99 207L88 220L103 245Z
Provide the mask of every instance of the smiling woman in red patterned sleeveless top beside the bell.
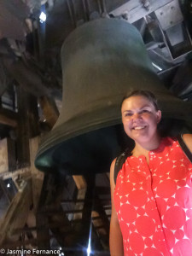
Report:
M123 99L122 122L135 146L110 181L111 255L191 255L192 164L177 138L160 137L154 95L136 90ZM192 135L183 135L192 151Z

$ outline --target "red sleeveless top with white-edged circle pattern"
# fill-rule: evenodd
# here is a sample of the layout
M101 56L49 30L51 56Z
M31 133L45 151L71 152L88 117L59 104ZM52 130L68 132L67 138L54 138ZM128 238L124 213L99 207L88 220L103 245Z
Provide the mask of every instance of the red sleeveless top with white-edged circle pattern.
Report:
M116 181L124 255L191 256L192 164L170 137L148 154L128 157Z

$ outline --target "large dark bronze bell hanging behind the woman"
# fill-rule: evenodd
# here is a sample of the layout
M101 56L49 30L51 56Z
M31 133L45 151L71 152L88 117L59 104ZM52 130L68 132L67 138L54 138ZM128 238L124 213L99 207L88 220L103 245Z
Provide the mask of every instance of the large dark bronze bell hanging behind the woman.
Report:
M63 105L38 149L39 170L108 172L125 147L120 102L130 90L151 90L166 117L185 119L192 108L161 84L143 39L125 20L100 19L75 29L61 49Z

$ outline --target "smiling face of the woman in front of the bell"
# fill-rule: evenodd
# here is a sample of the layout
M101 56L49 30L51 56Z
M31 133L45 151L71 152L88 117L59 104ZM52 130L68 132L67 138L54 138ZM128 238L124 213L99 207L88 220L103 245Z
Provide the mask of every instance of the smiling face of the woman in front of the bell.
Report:
M136 143L150 142L157 136L161 112L145 96L131 96L122 104L122 121L126 134Z

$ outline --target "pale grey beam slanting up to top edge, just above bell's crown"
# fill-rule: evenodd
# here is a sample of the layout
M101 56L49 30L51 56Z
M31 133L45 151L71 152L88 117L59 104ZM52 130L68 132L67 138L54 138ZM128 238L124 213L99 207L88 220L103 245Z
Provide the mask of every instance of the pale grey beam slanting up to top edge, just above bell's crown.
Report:
M140 0L130 0L125 4L122 4L119 8L114 9L110 14L114 16L120 16L125 13L128 15L128 22L133 23L146 15L151 14L160 7L171 3L173 0L149 0L149 9L143 7L143 3Z

